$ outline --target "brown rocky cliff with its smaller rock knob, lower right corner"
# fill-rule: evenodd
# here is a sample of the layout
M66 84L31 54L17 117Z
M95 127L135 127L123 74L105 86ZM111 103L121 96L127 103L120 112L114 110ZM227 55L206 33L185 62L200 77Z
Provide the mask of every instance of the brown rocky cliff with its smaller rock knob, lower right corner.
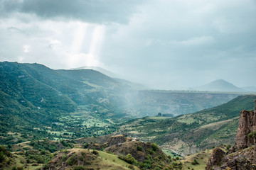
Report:
M206 170L256 169L256 100L254 111L240 111L235 145L224 155L220 148L213 149Z

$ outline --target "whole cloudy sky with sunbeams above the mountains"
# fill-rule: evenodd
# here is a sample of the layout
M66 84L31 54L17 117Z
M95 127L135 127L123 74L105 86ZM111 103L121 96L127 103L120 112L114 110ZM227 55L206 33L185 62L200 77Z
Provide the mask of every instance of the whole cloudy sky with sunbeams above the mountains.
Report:
M0 0L0 61L101 67L154 89L256 84L255 0Z

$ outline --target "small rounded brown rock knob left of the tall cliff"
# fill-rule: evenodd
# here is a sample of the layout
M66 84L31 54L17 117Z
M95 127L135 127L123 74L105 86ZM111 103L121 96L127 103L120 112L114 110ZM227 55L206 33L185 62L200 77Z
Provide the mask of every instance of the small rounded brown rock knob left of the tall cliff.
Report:
M206 170L210 170L211 167L221 164L224 155L225 152L223 152L222 149L218 147L213 149L213 152L210 154L210 158L206 164Z

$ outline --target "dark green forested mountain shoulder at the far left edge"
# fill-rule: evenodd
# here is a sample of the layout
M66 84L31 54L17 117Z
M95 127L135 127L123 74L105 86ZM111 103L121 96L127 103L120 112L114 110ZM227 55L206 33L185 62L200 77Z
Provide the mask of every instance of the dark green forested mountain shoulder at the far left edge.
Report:
M70 98L60 96L59 91L36 80L16 63L1 63L0 87L3 131L6 126L15 128L16 125L27 123L47 125L58 114L69 113L77 108Z

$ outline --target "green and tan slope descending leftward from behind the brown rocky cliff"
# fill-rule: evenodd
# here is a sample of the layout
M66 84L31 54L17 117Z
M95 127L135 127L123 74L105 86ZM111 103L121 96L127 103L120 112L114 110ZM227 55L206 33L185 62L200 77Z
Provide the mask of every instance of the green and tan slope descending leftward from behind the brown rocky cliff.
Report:
M238 96L223 105L176 118L161 120L159 117L145 117L131 120L118 133L156 142L179 154L194 153L221 143L233 144L239 112L252 110L255 99L255 95Z

